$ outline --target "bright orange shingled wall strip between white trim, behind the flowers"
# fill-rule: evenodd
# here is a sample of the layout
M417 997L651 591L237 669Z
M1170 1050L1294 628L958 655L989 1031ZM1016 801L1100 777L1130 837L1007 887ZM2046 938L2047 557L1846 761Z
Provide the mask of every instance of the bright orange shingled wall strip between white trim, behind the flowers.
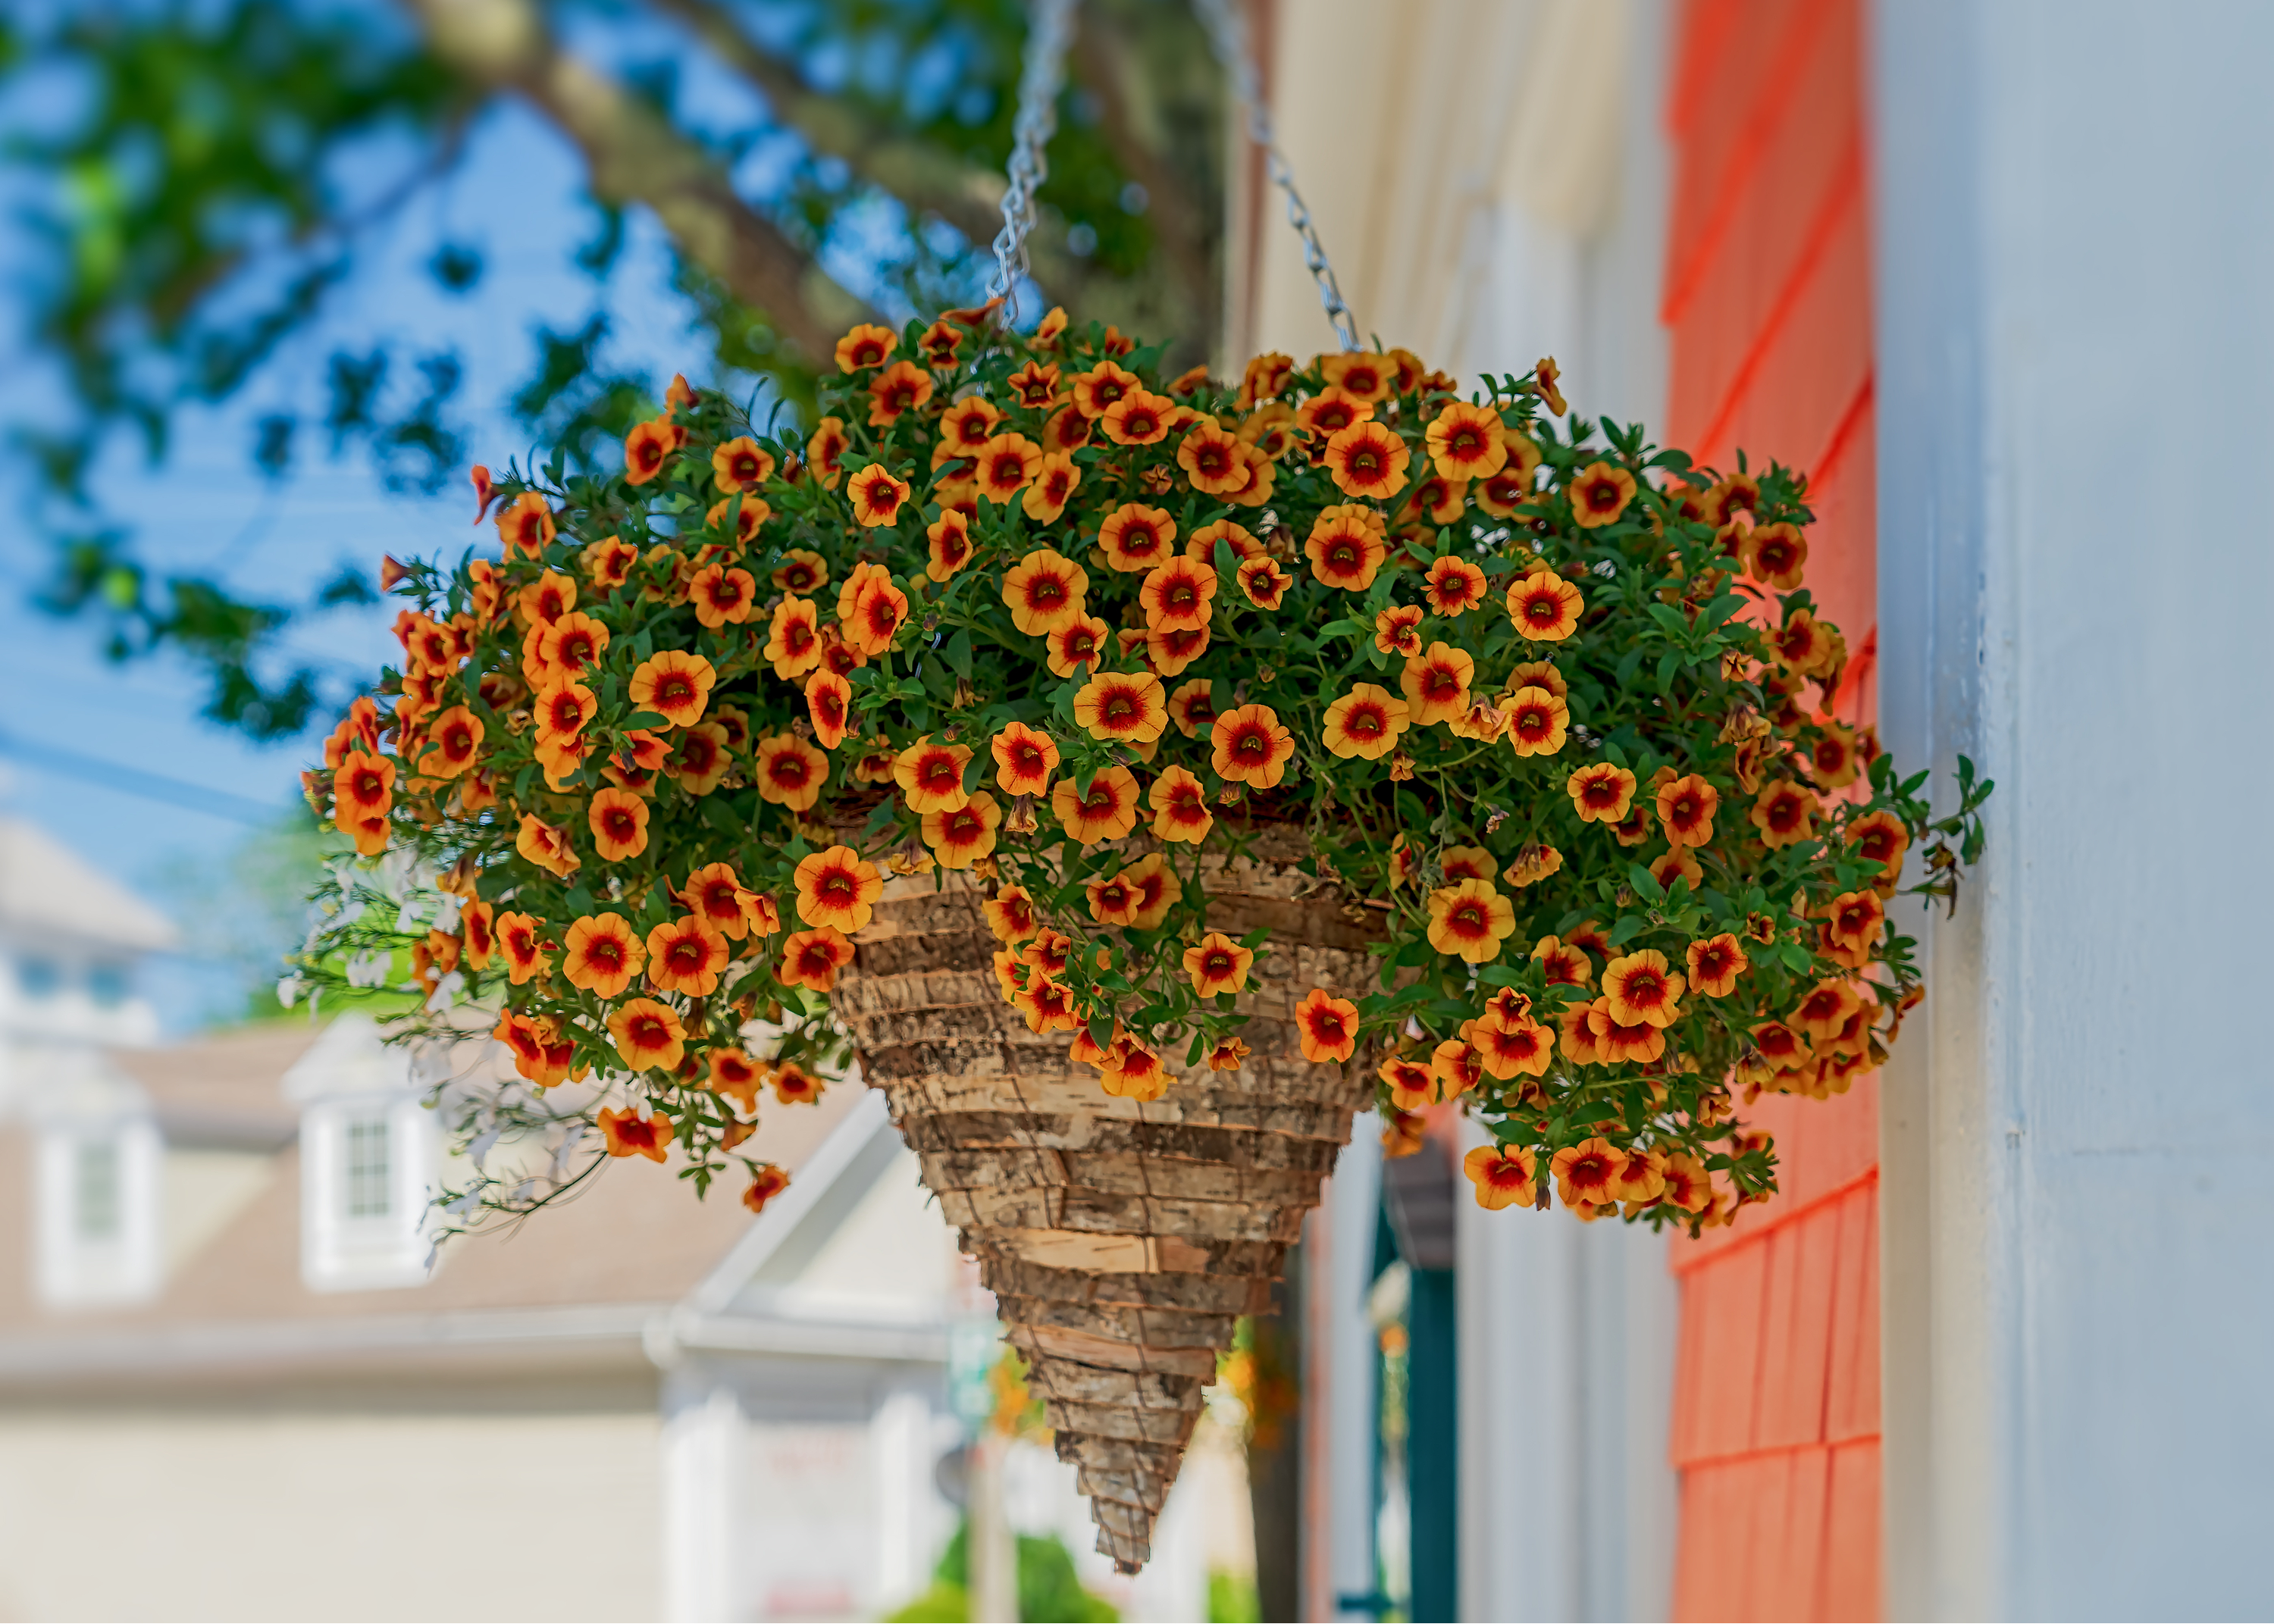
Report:
M1808 585L1874 714L1862 0L1687 0L1669 86L1669 441L1806 469ZM1878 1617L1878 1083L1767 1096L1783 1194L1676 1242L1674 1615Z

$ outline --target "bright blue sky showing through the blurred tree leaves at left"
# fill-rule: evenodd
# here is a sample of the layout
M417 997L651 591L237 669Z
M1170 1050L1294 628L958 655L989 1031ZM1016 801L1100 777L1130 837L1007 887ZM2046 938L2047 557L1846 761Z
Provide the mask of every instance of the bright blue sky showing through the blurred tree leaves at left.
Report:
M373 152L371 164L384 171L387 155ZM280 357L271 380L227 409L184 414L161 466L148 466L139 450L121 450L105 466L98 484L141 521L143 555L161 569L218 571L252 594L296 598L341 562L375 566L382 553L455 557L484 535L471 528L464 471L437 498L389 494L362 457L327 462L305 428L307 455L287 480L271 484L252 469L252 419L287 403L314 407L334 346L368 348L384 334L423 348L455 343L466 362L462 409L473 409L478 425L466 462L505 464L525 450L500 407L532 364L534 325L575 328L603 298L616 364L653 378L657 393L673 368L700 380L703 343L689 307L671 291L669 255L650 223L632 218L605 289L575 268L573 250L594 230L578 182L578 157L546 125L516 107L493 109L464 168L366 243L355 280L327 305L321 328ZM443 237L482 250L484 275L468 296L441 291L425 273ZM16 355L0 364L20 380L18 334L9 332L7 343ZM9 414L23 405L18 396ZM186 664L171 655L111 664L91 621L36 610L32 591L45 566L43 544L9 525L0 537L0 691L11 701L0 707L0 728L32 751L0 755L0 805L143 894L164 892L168 869L225 864L255 835L243 821L57 771L36 751L59 746L282 810L293 805L323 730L257 746L202 721L202 680ZM375 676L393 651L391 616L393 605L334 612L296 625L287 648ZM155 964L146 985L173 1030L239 1001L227 973L193 962Z

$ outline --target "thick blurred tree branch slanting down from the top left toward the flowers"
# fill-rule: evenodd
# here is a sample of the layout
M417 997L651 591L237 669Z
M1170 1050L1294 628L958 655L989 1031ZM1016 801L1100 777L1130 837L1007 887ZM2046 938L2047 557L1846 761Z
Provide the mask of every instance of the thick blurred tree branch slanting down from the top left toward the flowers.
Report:
M828 359L844 323L816 309L814 296L835 291L848 307L860 300L821 284L812 257L737 198L700 146L623 84L562 50L534 0L409 0L409 9L446 66L493 91L525 96L575 141L594 193L653 209L680 252L735 298L766 312L807 364Z

